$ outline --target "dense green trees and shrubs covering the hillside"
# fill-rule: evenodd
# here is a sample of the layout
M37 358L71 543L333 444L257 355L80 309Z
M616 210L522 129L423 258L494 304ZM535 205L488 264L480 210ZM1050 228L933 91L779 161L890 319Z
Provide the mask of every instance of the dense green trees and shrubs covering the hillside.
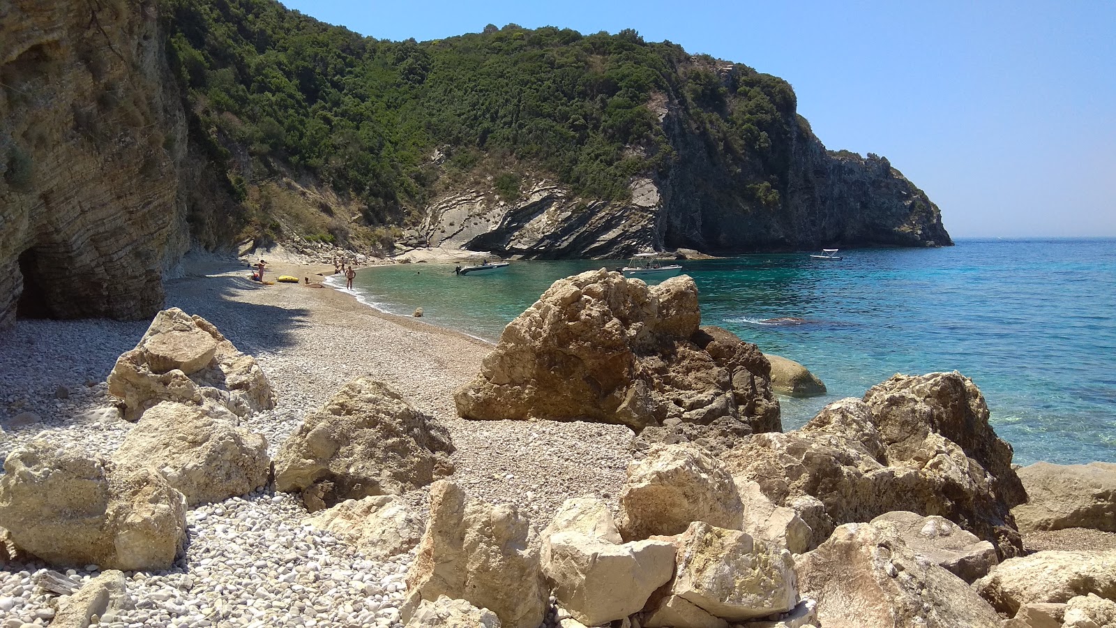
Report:
M520 194L513 172L622 200L633 175L665 173L676 155L653 102L674 103L741 187L761 181L760 202L778 204L786 183L790 86L634 30L508 25L393 42L272 0L163 0L162 12L191 140L238 201L291 168L359 202L369 226L406 222L443 174L481 168L507 200Z

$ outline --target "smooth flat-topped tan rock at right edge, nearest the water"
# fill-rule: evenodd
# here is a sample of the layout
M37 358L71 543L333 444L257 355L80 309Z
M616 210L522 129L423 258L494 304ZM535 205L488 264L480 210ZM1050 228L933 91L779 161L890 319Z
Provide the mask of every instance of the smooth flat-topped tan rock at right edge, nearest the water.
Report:
M1017 473L1027 503L1011 514L1023 534L1067 527L1116 532L1116 464L1035 463Z

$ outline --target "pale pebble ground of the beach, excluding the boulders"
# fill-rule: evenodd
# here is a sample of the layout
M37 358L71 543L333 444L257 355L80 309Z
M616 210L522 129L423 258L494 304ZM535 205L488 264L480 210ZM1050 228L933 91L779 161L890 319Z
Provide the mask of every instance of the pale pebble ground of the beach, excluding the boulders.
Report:
M315 280L333 269L286 261L270 272ZM472 379L491 345L382 314L339 291L261 286L248 275L243 263L195 259L166 283L166 306L208 318L259 361L278 405L243 425L267 437L270 454L307 413L367 373L443 421L456 447L453 477L471 495L516 504L539 530L568 497L615 504L629 462L627 428L459 419L453 390ZM19 321L0 337L0 456L33 438L114 451L132 424L119 418L105 378L146 329L146 322ZM426 491L404 498L426 512ZM402 626L411 556L367 560L304 525L307 517L297 498L266 491L190 511L185 556L170 571L126 572L140 603L99 626ZM49 624L58 598L35 586L44 567L0 570L0 628ZM87 579L95 568L69 575Z

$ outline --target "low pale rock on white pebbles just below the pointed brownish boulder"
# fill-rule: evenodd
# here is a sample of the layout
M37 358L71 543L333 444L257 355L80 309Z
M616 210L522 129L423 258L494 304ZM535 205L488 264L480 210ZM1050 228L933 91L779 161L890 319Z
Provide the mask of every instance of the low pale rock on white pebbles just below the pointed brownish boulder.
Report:
M422 520L395 495L346 499L306 521L373 560L411 551L423 531Z

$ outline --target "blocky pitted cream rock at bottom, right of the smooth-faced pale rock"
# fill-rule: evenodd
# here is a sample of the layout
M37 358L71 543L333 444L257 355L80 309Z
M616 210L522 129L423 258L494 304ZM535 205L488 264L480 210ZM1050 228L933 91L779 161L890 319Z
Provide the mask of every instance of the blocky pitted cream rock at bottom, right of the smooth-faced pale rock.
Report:
M691 524L677 542L670 593L713 617L758 619L798 603L795 561L779 545L703 522Z

